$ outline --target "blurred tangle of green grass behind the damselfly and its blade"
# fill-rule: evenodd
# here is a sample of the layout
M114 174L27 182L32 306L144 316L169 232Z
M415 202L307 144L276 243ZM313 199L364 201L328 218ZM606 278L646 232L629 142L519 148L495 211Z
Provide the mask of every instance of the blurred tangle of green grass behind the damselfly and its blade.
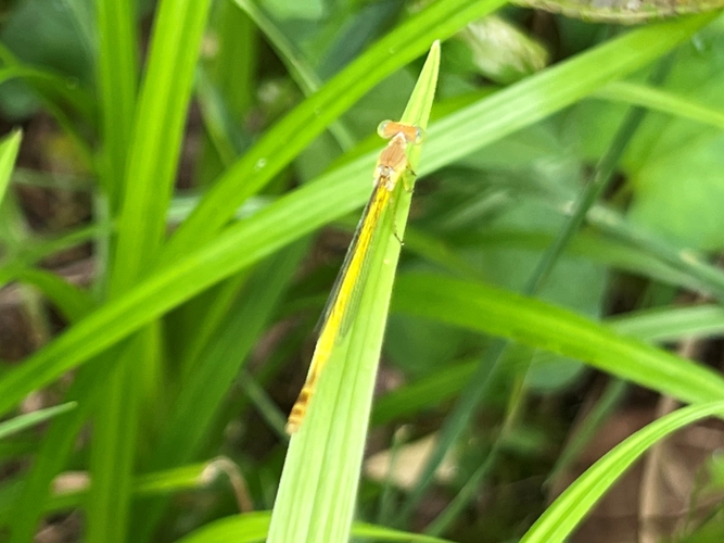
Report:
M3 541L265 539L374 128L435 39L353 536L534 538L613 444L724 399L715 13L623 27L493 0L2 9ZM585 15L642 18L615 13ZM659 445L581 505L574 541L719 541L723 438L711 422Z

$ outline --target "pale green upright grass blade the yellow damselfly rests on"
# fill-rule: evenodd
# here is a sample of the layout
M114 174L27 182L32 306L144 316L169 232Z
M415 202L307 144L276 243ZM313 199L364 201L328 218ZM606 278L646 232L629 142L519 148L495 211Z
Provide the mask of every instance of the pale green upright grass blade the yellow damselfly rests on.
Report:
M435 42L402 122L425 127L437 79ZM420 149L409 149L415 171ZM370 249L366 281L344 341L329 364L300 432L292 438L269 529L270 543L346 541L357 493L374 377L411 194L397 184L394 223Z

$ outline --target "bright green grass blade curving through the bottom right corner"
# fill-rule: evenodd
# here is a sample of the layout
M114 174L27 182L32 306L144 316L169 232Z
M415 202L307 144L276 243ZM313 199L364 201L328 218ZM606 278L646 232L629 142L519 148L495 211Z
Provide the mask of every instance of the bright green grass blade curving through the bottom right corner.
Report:
M651 446L675 430L711 416L724 416L724 402L684 407L626 438L558 496L521 543L564 541L604 493Z

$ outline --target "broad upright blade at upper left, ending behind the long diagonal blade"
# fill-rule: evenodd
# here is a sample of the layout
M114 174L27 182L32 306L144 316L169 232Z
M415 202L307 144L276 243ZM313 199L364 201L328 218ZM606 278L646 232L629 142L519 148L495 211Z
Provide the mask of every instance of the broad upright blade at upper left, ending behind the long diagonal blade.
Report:
M166 212L209 3L164 1L158 7L116 223L112 292L123 292L138 280L165 237Z

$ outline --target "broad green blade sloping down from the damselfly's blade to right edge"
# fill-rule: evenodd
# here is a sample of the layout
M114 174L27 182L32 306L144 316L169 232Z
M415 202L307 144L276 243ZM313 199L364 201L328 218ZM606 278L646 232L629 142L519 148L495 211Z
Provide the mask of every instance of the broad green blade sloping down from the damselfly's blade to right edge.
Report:
M393 301L405 314L475 329L577 358L683 402L724 397L721 375L567 310L440 276L401 276Z

